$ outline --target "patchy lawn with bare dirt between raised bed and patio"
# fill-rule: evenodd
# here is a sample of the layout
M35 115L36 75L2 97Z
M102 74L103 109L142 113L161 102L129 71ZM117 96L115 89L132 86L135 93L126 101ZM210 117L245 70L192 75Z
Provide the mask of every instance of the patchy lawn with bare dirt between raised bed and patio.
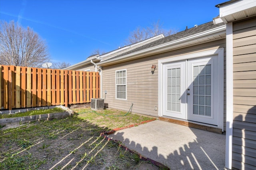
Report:
M74 117L0 130L0 169L159 169L100 136L150 118L114 109L74 111Z

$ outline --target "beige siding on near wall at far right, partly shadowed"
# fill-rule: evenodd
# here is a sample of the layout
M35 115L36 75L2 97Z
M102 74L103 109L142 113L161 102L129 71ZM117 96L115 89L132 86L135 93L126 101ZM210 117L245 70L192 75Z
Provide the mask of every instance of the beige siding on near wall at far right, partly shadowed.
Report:
M232 167L256 166L256 18L233 24Z

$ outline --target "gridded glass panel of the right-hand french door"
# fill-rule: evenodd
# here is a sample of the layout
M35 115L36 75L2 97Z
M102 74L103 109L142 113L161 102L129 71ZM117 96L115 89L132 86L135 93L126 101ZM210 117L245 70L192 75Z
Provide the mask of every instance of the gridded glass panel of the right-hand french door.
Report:
M193 71L193 114L211 116L211 65L194 66Z

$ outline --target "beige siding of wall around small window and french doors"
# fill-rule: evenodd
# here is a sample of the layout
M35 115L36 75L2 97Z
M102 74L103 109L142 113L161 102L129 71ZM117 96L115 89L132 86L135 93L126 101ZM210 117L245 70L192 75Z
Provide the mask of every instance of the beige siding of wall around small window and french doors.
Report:
M166 53L134 59L103 67L103 91L107 90L106 103L110 108L128 111L134 103L132 112L144 115L158 116L158 60L191 53L218 49L226 46L226 40L202 43L191 47L177 49ZM224 55L226 49L224 48ZM224 57L226 59L226 57ZM224 62L226 64L226 62ZM151 73L152 64L156 65L154 74ZM226 68L226 66L224 66ZM115 98L115 71L127 69L127 100ZM224 71L226 79L226 71ZM226 82L226 80L224 80ZM226 95L226 85L224 87ZM105 96L104 96L105 97ZM224 97L225 98L225 97ZM224 101L224 128L226 129L226 101Z

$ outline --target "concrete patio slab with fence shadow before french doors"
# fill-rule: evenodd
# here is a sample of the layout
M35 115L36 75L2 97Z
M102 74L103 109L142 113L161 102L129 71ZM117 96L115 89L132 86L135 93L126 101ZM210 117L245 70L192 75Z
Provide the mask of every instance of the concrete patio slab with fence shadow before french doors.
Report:
M224 134L157 120L108 137L170 169L224 169Z

